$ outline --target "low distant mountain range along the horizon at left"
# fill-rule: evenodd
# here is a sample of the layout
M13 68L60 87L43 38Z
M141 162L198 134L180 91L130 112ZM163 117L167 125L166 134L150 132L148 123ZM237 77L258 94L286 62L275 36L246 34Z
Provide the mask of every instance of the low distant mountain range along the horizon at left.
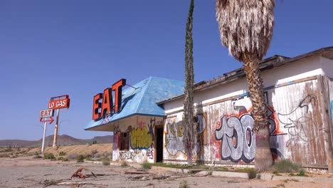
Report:
M93 137L92 139L78 139L68 135L58 135L57 145L85 145L86 143L93 144L96 141L97 143L112 143L113 136L107 135L102 137ZM4 147L41 147L43 139L30 141L30 140L0 140L0 146ZM53 135L45 137L45 146L53 145Z

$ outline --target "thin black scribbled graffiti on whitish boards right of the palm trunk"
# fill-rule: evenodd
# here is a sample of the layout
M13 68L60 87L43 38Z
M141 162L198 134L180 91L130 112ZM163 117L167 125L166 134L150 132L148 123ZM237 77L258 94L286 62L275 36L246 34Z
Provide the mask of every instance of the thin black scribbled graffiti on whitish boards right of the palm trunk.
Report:
M307 95L300 104L292 110L290 113L281 114L278 113L278 120L287 128L287 133L289 135L289 140L286 142L286 147L290 146L292 142L297 142L302 140L304 142L309 142L307 136L307 125L314 125L317 127L316 123L312 120L313 108L317 106L317 97L315 95Z

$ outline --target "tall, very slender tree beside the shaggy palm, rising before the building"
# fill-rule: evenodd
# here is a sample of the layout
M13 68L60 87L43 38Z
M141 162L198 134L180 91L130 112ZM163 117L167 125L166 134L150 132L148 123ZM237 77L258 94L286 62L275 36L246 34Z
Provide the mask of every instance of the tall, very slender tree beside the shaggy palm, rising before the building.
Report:
M193 70L193 11L194 0L191 0L189 16L186 23L185 37L185 99L184 99L184 120L183 120L183 142L187 154L187 164L192 166L192 152L194 150L194 137L196 127L194 126L194 70Z

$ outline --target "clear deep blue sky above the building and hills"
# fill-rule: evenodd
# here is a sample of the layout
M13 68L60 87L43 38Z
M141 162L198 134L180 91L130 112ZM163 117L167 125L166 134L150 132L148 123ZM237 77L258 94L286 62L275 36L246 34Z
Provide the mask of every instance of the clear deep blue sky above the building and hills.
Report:
M329 0L277 1L266 57L333 46L332 7ZM188 9L185 0L0 1L0 140L40 139L39 110L63 94L71 106L60 110L60 135L110 135L83 130L93 96L120 78L132 85L149 75L184 80ZM193 32L196 82L240 68L221 46L215 1L195 1Z

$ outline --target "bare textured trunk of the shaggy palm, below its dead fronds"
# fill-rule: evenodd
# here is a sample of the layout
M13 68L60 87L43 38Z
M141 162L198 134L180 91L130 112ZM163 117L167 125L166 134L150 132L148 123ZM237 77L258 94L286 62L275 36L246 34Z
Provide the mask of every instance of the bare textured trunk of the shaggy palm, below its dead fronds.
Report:
M248 80L250 99L252 102L252 114L255 125L253 127L256 142L255 169L264 172L273 165L273 157L270 153L270 132L268 121L267 102L265 100L263 79L259 70L260 59L255 54L244 55L244 70Z

